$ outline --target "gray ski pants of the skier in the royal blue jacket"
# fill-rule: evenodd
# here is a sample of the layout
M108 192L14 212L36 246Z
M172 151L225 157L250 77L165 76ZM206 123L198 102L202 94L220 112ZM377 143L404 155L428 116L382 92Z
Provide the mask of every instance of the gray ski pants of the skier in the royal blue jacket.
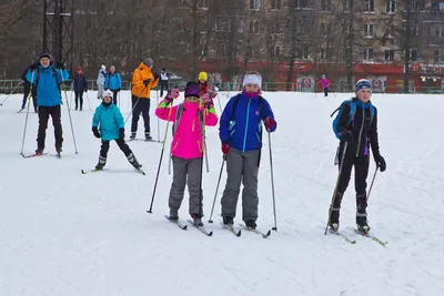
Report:
M241 152L230 149L226 155L226 185L221 200L222 216L235 217L242 181L242 220L258 218L258 161L259 150Z

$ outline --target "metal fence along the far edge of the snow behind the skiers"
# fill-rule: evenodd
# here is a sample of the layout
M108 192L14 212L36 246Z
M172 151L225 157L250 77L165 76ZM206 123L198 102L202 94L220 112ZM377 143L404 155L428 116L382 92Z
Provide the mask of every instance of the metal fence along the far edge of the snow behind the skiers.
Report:
M185 88L186 82L183 80L179 81L170 81L170 88L178 88L183 90ZM65 81L67 89L72 88L71 81ZM122 81L122 90L129 90L131 86L130 81ZM221 85L218 85L221 91L240 91L241 85L239 83L232 82L223 82ZM97 90L95 80L90 80L88 82L89 90ZM262 82L263 91L292 91L292 92L322 92L322 88L314 83L305 84L305 83L286 83L286 82ZM330 91L331 92L353 92L354 84L347 85L346 83L331 83ZM379 93L405 93L404 86L401 84L387 84L384 88L379 90L374 90L374 92ZM23 93L23 81L22 80L0 80L0 93L10 94L10 93ZM443 86L414 86L410 85L407 93L444 93L444 84Z

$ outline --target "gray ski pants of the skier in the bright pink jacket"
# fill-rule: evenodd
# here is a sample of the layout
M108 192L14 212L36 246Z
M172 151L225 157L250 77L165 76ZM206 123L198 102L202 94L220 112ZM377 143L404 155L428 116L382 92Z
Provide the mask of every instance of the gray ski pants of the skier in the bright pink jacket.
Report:
M185 193L185 185L188 184L188 192L190 194L190 215L202 215L202 198L201 193L201 172L202 159L184 160L181 157L172 156L173 160L173 183L171 184L169 206L171 210L179 210L183 195Z

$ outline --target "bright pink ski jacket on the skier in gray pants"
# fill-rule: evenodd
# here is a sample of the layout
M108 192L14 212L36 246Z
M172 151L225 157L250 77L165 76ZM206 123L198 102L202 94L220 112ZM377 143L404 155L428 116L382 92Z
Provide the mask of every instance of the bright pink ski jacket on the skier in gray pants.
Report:
M205 126L214 126L218 124L218 115L214 106L204 108L202 102L191 103L183 102L182 114L180 115L176 126L174 126L174 136L171 143L171 154L184 160L202 157L204 144L202 141L202 131L199 120L199 113L203 112L203 122ZM175 122L178 105L170 106L162 101L155 109L155 115L161 120Z

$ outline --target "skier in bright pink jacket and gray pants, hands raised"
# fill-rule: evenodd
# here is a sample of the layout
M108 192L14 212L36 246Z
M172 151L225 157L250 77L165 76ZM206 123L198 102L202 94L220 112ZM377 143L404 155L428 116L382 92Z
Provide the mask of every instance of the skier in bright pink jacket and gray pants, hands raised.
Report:
M198 226L202 226L202 172L204 150L204 126L218 124L213 100L209 93L200 96L198 82L189 82L183 103L172 106L179 90L172 89L158 105L155 115L174 122L171 154L173 161L173 183L171 184L169 206L170 218L179 220L185 184L190 194L189 213Z

